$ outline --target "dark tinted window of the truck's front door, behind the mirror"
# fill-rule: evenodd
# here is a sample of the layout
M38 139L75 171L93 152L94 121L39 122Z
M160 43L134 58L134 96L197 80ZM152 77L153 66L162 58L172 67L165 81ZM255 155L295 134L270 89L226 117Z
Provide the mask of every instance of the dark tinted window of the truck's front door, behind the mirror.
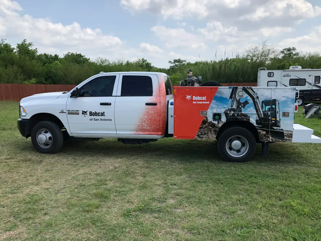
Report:
M116 75L98 76L80 87L81 97L107 97L113 95Z

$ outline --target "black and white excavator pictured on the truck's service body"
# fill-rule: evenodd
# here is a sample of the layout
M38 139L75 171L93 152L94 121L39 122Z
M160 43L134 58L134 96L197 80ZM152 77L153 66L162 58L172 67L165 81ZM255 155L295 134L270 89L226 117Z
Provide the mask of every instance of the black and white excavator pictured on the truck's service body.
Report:
M279 101L270 99L262 101L256 91L251 87L233 87L230 94L228 108L224 111L226 121L250 121L250 116L243 113L242 110L249 104L247 100L241 102L246 93L254 104L256 113L256 128L265 131L267 135L274 138L284 139L284 131L281 128L280 106Z

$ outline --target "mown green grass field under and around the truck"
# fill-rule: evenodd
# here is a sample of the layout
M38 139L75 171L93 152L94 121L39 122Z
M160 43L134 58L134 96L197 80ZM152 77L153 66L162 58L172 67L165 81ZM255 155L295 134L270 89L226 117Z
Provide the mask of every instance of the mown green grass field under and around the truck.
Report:
M0 102L2 240L321 240L321 146L224 162L213 141L115 139L37 153ZM321 120L311 123L321 136Z

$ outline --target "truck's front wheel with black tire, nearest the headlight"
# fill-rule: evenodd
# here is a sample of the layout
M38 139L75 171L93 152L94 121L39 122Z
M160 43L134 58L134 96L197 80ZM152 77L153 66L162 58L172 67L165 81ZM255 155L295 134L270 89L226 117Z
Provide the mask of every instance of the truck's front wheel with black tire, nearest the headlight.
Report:
M56 153L62 147L63 142L64 136L61 128L54 122L39 122L31 130L32 146L41 153Z

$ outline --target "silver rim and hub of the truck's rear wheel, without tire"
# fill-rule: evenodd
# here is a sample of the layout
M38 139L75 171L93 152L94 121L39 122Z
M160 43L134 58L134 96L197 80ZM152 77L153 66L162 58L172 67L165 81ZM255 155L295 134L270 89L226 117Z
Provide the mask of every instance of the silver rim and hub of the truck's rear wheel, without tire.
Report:
M244 156L248 151L247 139L242 136L232 136L226 142L227 152L234 157Z

